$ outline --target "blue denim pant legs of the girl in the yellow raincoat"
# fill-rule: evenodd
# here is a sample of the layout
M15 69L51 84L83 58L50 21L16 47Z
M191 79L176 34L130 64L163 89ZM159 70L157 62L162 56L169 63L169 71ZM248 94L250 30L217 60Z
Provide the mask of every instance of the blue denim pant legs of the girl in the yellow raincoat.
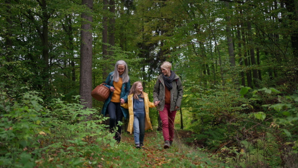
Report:
M134 137L135 137L135 144L140 144L144 142L145 111L134 112Z

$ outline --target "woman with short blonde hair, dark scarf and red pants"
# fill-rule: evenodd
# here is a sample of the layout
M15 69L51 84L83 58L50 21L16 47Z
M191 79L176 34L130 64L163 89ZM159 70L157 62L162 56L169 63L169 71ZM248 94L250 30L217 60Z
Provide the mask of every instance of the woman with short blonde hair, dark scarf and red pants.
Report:
M183 86L180 78L171 71L172 65L164 62L161 66L162 74L157 77L153 90L154 105L158 105L159 116L162 121L162 135L164 149L169 148L174 138L174 121L176 111L180 109Z

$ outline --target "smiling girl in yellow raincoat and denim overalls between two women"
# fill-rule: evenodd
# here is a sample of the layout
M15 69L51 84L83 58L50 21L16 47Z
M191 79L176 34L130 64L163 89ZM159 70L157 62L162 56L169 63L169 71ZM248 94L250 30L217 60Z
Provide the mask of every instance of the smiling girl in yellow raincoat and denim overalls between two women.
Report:
M127 103L121 105L128 108L129 123L127 131L134 131L136 148L144 146L145 130L152 129L149 118L149 107L155 107L154 103L149 101L148 94L143 91L142 83L135 82L131 87Z

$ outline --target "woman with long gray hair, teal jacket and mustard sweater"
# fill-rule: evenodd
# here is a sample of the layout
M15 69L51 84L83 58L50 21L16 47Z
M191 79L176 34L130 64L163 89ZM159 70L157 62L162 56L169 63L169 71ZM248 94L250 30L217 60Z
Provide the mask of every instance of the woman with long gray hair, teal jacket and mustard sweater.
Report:
M110 114L110 131L112 132L122 118L128 117L128 109L121 107L121 104L127 102L127 96L130 90L130 78L125 61L120 60L115 64L115 69L111 72L105 81L105 86L111 90L111 94L105 100L101 113L105 116ZM115 140L119 143L121 140L121 126L118 126L115 134Z

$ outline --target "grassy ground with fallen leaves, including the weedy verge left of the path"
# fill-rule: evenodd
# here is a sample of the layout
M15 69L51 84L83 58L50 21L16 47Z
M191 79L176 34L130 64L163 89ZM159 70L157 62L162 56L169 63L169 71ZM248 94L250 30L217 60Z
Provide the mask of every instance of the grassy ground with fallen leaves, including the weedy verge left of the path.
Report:
M176 136L177 137L177 136ZM175 139L169 149L163 149L162 132L146 132L144 147L137 149L134 135L123 133L114 147L90 144L76 147L70 153L58 152L48 156L38 167L84 168L222 168L223 163L212 160L207 153L195 150ZM69 147L68 147L69 149ZM76 152L75 152L76 151ZM62 156L64 154L64 156ZM38 163L38 162L37 162ZM51 166L47 166L51 165Z

